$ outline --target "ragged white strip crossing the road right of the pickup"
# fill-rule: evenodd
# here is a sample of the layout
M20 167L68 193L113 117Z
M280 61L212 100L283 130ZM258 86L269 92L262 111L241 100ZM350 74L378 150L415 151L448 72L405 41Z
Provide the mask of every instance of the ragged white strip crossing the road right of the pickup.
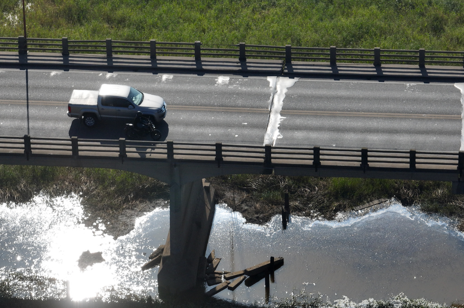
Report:
M280 115L282 105L284 104L285 93L287 89L294 85L298 78L289 77L267 77L269 86L271 87L271 98L269 99L269 119L267 121L266 134L264 135L264 143L275 145L277 138L282 138L279 132L279 125L285 117Z

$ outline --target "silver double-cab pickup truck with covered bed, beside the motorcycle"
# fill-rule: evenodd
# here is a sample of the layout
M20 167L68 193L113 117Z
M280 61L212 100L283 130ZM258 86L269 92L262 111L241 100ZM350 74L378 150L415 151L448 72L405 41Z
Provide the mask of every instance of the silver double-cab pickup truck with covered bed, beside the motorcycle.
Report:
M68 103L68 116L88 127L105 119L134 120L137 111L156 123L166 116L166 103L160 96L121 84L102 84L98 91L73 90Z

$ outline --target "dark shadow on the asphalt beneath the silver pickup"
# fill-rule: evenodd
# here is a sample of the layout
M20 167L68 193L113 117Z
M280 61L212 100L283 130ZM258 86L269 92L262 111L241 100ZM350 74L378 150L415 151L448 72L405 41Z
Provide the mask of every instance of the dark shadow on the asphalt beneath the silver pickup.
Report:
M127 120L113 120L113 121L100 121L93 128L88 128L81 123L79 119L75 119L71 122L69 128L69 136L76 136L80 139L109 139L117 140L119 138L125 138L124 127ZM168 138L169 125L166 121L162 120L156 124L156 128L161 131L161 138L158 141L165 141ZM150 136L144 137L140 140L151 141Z

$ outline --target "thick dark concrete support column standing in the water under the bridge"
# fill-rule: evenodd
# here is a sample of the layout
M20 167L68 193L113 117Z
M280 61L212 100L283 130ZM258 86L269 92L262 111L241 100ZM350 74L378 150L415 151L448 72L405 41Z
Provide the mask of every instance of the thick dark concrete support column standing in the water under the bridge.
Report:
M205 179L172 184L169 206L170 227L158 272L161 297L191 291L205 275L206 246L215 210L214 187Z

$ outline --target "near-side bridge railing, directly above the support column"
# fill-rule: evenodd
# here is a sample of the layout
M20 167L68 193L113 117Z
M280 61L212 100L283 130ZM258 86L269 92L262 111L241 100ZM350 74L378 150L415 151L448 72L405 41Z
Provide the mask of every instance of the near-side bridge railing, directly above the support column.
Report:
M161 160L166 162L211 162L223 164L253 164L265 168L348 167L383 168L391 171L417 169L438 170L462 174L464 152L426 152L401 150L371 150L342 148L303 148L190 143L174 141L131 141L71 138L45 138L24 135L0 136L0 157L24 156L70 159Z

